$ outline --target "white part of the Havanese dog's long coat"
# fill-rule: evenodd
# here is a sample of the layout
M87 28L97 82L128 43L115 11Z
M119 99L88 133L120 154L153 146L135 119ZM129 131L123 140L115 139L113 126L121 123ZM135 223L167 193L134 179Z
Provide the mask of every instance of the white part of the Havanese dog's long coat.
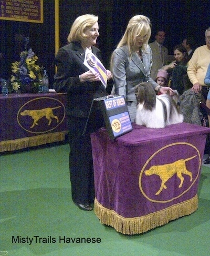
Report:
M164 128L166 125L183 122L183 115L177 112L176 106L172 103L171 96L162 94L156 96L156 107L150 111L144 109L144 103L138 104L135 123L149 128ZM164 120L164 108L161 99L164 101L167 110L167 120ZM172 111L170 111L170 109ZM171 112L171 115L170 115Z

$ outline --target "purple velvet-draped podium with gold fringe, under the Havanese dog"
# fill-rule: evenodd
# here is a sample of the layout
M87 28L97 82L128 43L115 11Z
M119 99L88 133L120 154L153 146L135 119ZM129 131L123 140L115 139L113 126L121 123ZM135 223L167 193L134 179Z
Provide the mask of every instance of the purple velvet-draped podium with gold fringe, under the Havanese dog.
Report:
M197 210L197 188L209 128L182 123L164 129L133 124L111 140L91 134L95 213L123 234L143 233Z

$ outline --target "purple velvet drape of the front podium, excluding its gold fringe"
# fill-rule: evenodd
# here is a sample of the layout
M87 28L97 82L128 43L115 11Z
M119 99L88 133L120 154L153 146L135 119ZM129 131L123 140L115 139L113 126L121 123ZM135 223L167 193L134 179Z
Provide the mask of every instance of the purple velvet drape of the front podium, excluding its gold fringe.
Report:
M209 132L206 127L181 123L164 129L133 124L133 131L115 140L109 138L106 129L92 133L98 202L125 218L134 218L192 199L197 194ZM159 166L167 175L171 170L183 171L186 166L192 181L190 175L183 172L184 181L178 188L181 180L175 172L165 182L167 188L156 194L161 188L161 177L160 174L145 175L151 166Z

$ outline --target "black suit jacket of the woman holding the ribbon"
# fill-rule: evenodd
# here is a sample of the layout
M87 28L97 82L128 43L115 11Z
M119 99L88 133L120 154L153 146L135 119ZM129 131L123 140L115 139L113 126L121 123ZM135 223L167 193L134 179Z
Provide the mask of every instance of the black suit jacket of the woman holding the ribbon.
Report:
M92 53L101 59L100 50L92 46ZM88 71L83 64L85 51L80 43L72 42L59 49L55 57L57 74L54 76L56 92L67 92L67 115L69 117L88 117L92 100L106 96L101 82L80 83L79 75Z

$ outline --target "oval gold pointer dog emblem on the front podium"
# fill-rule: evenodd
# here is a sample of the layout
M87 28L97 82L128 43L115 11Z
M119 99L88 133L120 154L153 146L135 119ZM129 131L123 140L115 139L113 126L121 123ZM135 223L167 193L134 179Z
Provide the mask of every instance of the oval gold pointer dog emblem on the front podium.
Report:
M170 156L169 152L174 153ZM182 156L184 152L188 157ZM164 159L166 163L156 164L160 163L160 159ZM170 202L192 188L200 169L201 156L194 145L186 142L173 143L162 147L146 161L140 172L139 187L150 201Z

